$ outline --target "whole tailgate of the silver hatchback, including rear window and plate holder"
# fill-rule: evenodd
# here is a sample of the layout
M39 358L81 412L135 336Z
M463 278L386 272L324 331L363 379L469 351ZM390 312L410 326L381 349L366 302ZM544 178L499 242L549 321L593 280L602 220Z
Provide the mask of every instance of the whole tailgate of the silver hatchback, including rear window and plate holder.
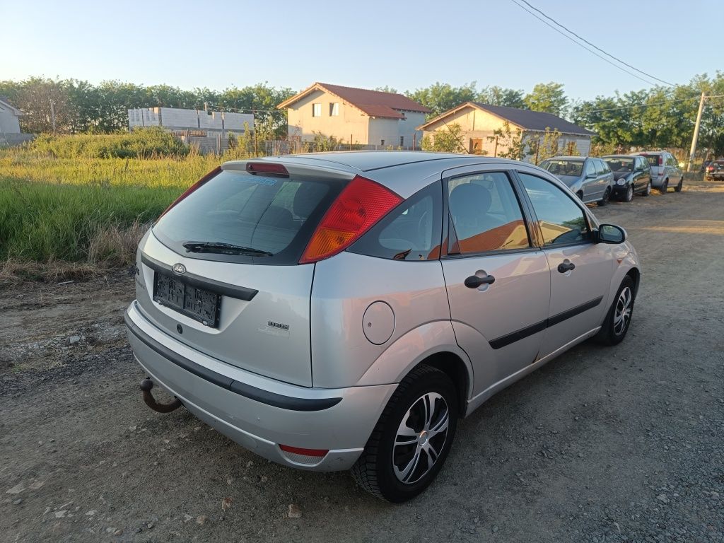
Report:
M314 264L298 262L352 177L261 161L225 164L141 240L139 310L190 348L311 387Z

